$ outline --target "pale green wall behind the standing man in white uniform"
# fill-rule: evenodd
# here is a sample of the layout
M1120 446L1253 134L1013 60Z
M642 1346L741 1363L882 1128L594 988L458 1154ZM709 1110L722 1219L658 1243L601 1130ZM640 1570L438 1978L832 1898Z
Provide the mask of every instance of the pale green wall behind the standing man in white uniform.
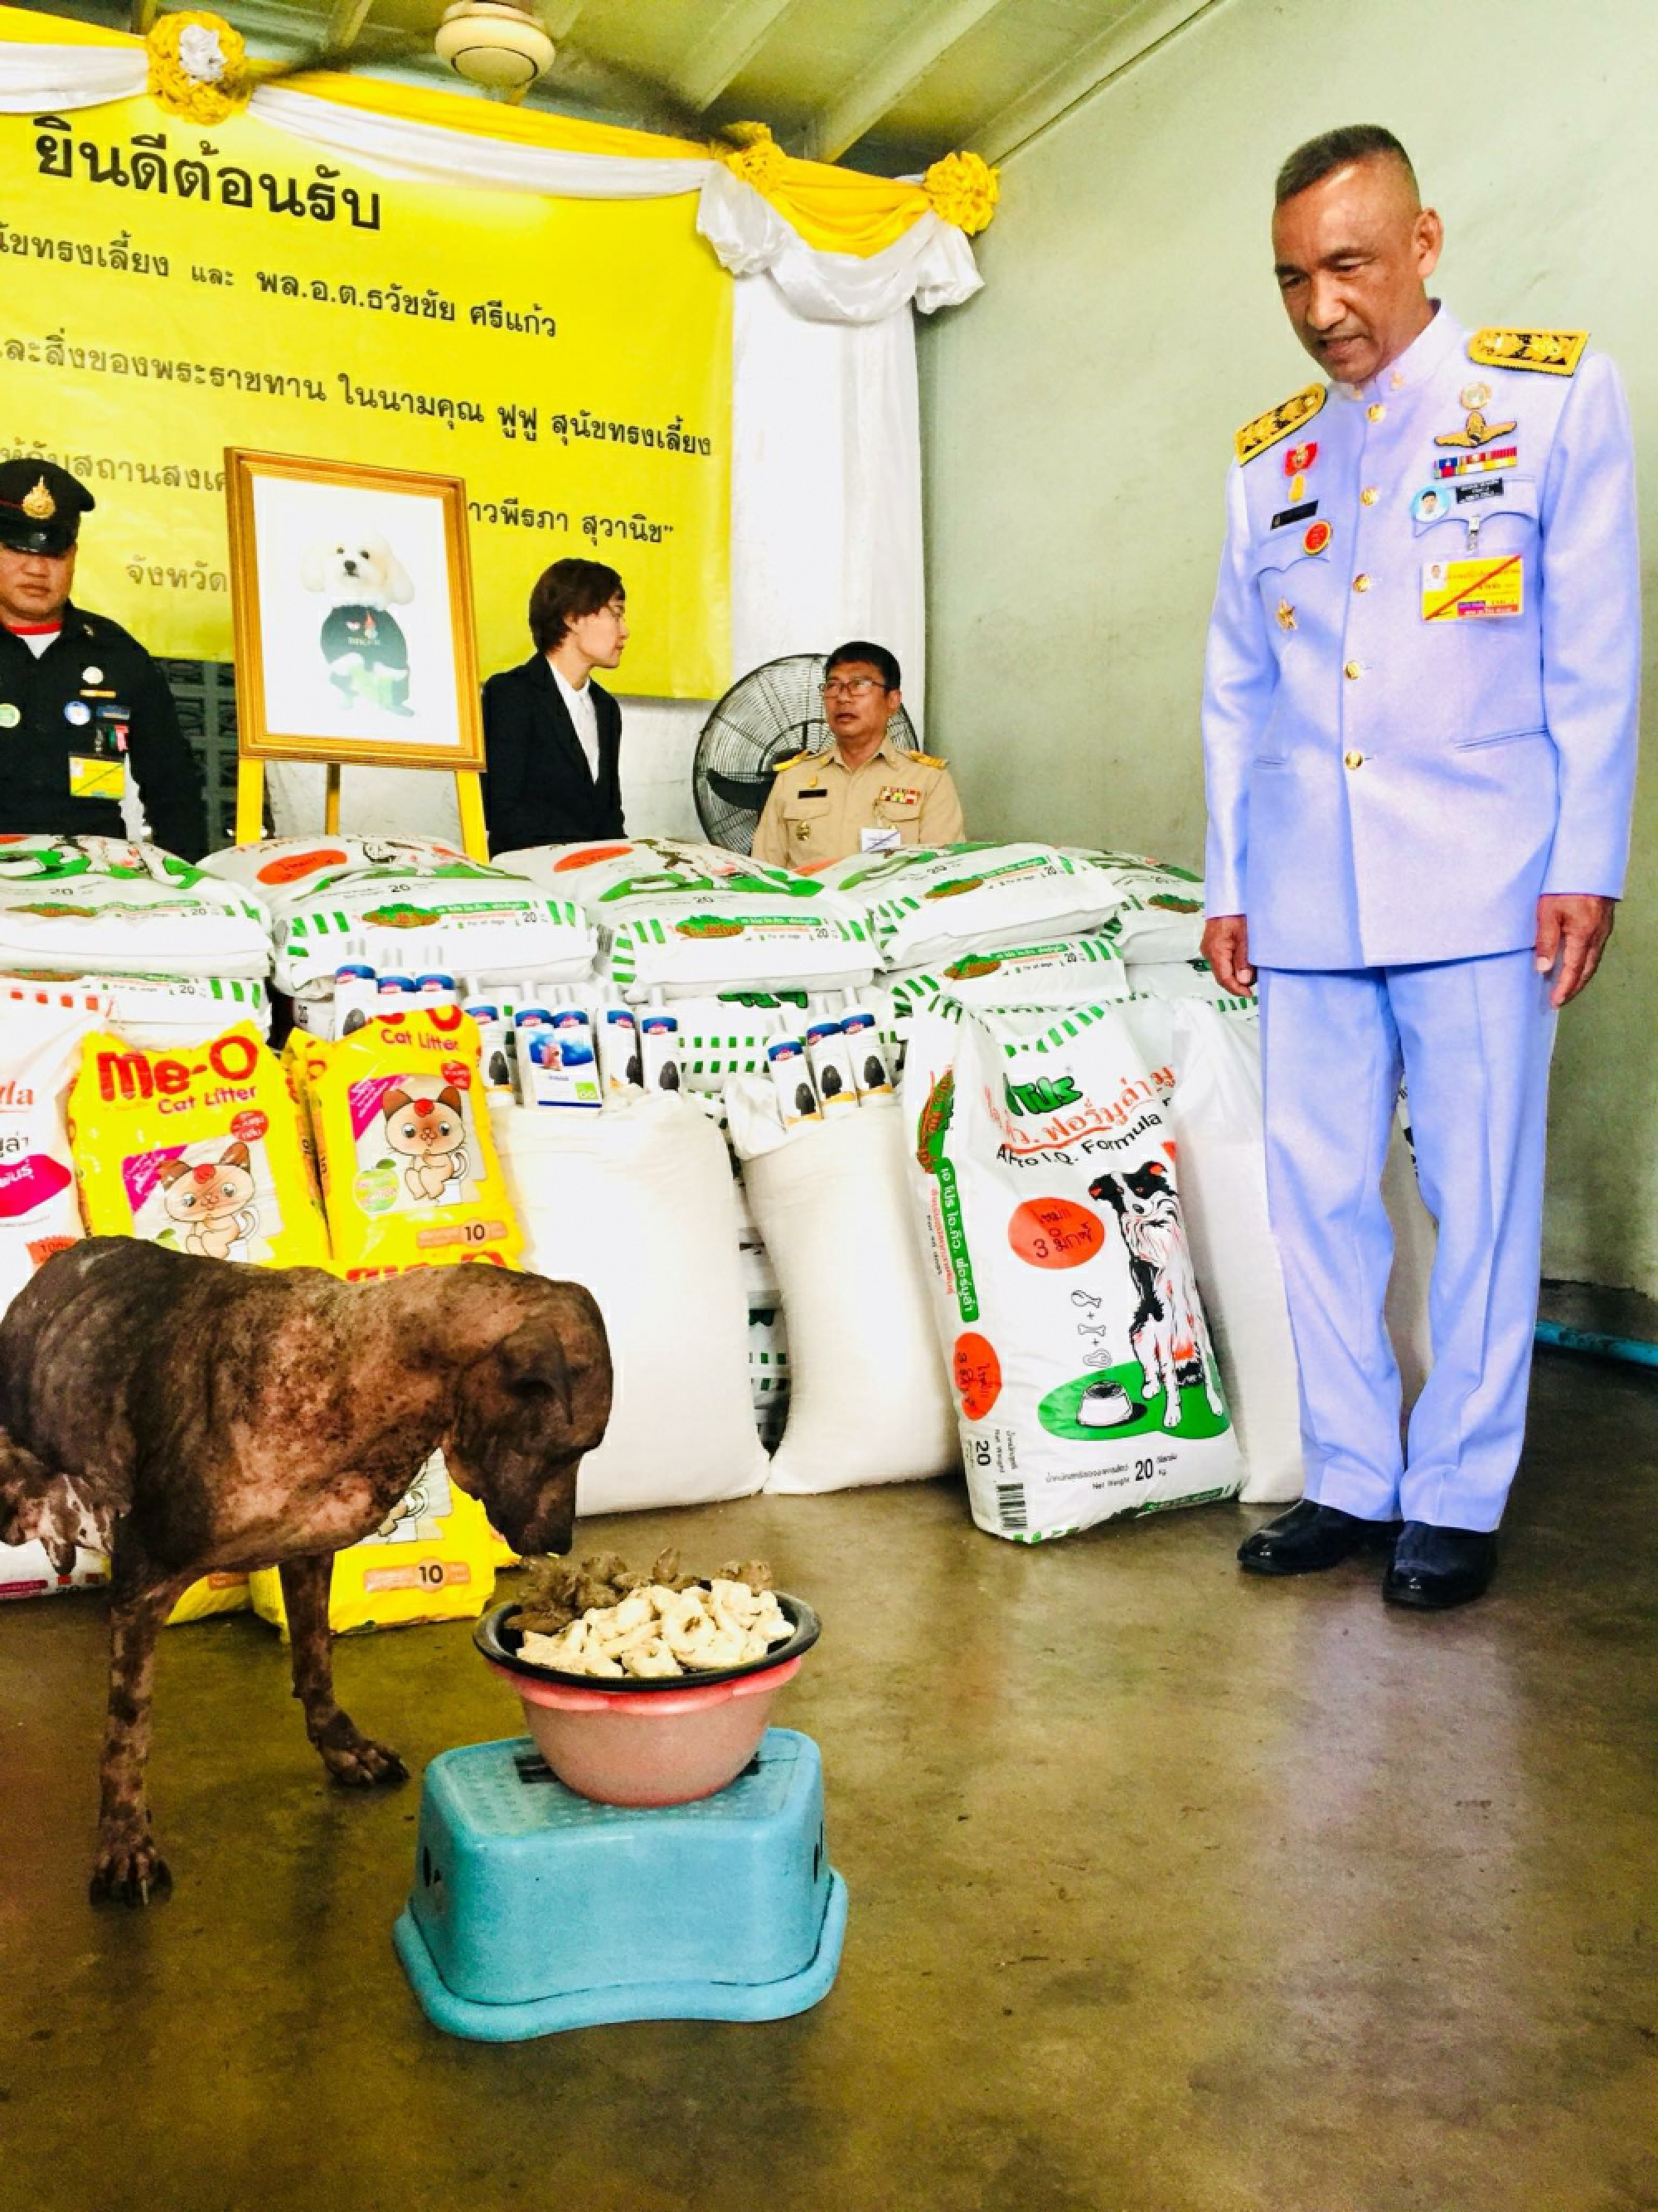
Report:
M1006 161L988 288L922 336L924 743L975 834L1200 865L1231 431L1315 374L1271 279L1271 179L1331 124L1406 142L1446 217L1435 290L1463 323L1587 325L1616 356L1658 549L1654 113L1651 0L1220 0ZM1545 1254L1649 1292L1656 787L1647 772L1609 964L1561 1024Z

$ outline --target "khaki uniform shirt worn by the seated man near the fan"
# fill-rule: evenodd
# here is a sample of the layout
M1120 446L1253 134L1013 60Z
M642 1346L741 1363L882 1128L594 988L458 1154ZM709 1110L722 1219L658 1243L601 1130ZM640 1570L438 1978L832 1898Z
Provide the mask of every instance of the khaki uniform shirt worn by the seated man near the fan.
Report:
M862 852L864 830L895 830L900 845L957 845L962 801L944 761L900 752L891 739L862 768L840 748L783 761L754 832L754 858L767 867L822 867Z

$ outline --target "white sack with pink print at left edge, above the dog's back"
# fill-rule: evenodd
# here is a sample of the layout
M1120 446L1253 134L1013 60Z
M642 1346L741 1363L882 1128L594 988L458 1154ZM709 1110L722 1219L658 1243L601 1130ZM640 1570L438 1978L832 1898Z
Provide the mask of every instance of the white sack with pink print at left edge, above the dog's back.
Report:
M0 1002L0 1312L82 1232L64 1099L104 1000L97 991L66 998Z

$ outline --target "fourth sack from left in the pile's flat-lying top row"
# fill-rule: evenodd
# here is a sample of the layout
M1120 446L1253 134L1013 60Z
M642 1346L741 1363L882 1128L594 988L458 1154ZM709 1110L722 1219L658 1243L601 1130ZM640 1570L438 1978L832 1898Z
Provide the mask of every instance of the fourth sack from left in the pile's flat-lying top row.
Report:
M820 869L869 920L886 969L931 967L1092 929L1121 905L1112 880L1052 845L915 845Z

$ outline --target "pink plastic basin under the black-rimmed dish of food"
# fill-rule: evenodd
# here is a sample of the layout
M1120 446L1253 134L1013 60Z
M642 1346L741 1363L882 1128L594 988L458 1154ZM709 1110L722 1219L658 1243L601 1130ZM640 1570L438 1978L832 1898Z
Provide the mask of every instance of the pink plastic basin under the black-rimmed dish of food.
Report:
M800 1659L732 1681L657 1690L573 1690L491 1670L524 1701L542 1759L577 1796L599 1805L685 1805L734 1783L767 1730L772 1701Z

